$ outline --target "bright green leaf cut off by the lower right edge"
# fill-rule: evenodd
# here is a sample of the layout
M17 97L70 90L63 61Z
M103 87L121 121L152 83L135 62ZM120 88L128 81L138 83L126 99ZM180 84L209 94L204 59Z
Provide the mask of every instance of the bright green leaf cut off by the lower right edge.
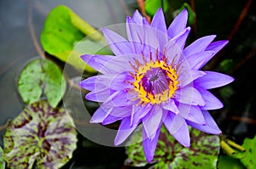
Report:
M251 138L245 138L242 147L247 149L247 156L241 159L241 163L248 169L256 168L256 136Z

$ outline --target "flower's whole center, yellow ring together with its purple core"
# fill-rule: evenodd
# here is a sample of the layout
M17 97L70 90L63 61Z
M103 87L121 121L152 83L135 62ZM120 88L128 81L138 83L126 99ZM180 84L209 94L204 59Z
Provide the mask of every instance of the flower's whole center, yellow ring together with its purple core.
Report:
M135 78L132 85L140 99L139 104L160 104L173 98L178 84L177 72L172 65L166 64L165 57L137 65L136 74L132 74Z

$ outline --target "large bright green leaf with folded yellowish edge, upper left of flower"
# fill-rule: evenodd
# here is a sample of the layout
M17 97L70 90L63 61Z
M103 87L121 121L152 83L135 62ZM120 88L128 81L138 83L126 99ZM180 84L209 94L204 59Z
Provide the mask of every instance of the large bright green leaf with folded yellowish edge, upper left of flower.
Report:
M90 35L91 43L96 45L97 48L93 46L96 52L98 52L98 49L106 47L104 42L100 42L103 41L103 37L99 31L96 31L77 14L73 13L70 8L60 5L52 9L47 16L41 33L41 43L47 53L76 68L84 70L85 64L80 59L80 55L83 53L73 51L73 49L87 35ZM98 48L99 45L101 45L100 48ZM109 54L110 52L106 49L99 51L97 54L105 53ZM84 54L89 53L85 51ZM96 72L96 70L89 66L86 67L86 70Z

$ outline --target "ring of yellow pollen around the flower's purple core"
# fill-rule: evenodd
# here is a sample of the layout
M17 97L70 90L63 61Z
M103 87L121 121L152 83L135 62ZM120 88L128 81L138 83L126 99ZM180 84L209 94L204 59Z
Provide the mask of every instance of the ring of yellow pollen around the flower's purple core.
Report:
M137 65L139 65L139 67L137 67L136 73L131 73L131 75L135 79L135 82L133 82L132 85L134 87L134 91L137 93L137 99L140 99L139 104L160 104L169 98L173 98L179 83L177 81L177 69L173 68L172 65L166 64L166 57L164 57L162 60L156 59L154 62L150 57L150 62L146 63L145 65L137 63ZM148 93L143 87L143 76L148 70L152 68L160 68L160 70L164 70L166 72L166 77L169 77L168 88L162 93Z

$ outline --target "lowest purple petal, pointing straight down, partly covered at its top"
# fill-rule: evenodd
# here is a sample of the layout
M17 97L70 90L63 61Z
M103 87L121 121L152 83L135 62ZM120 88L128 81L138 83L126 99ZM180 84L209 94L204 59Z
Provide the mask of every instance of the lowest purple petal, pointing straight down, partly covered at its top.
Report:
M160 135L160 128L157 129L156 133L154 134L154 138L149 139L147 137L146 131L143 128L143 150L148 163L152 162L154 159L154 151L157 145L159 135Z

